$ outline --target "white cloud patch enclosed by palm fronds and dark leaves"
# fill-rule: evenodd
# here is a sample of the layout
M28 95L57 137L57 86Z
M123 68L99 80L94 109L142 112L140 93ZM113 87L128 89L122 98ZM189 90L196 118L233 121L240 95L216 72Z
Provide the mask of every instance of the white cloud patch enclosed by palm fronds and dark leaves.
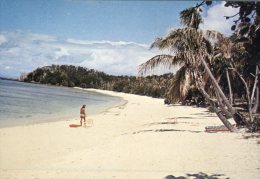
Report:
M211 6L204 15L204 24L201 25L202 29L216 30L225 35L232 33L231 26L234 24L234 19L228 19L224 16L232 16L238 12L238 9L232 7L225 7L225 1Z

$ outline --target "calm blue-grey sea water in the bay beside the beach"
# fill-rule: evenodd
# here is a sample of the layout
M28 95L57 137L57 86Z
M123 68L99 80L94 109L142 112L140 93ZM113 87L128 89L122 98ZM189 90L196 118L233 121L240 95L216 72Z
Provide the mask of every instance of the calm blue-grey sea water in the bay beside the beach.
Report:
M79 119L123 103L122 98L82 89L0 79L0 127Z

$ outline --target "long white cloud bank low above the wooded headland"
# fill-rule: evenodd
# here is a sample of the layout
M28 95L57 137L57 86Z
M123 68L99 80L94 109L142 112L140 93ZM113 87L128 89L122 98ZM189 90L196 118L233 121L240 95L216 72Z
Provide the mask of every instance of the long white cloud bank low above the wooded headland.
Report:
M0 45L0 75L8 77L51 64L83 66L113 75L137 75L138 65L158 53L135 42L58 39L21 31L0 32L0 40L1 37L5 41Z

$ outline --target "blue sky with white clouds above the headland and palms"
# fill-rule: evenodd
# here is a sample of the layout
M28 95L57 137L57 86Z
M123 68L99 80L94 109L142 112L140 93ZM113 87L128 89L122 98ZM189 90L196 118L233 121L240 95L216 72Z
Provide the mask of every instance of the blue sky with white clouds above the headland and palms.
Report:
M180 27L179 12L196 1L1 0L0 76L51 64L71 64L114 75L136 75L137 67L161 53L156 37ZM229 35L236 9L214 2L204 7L204 29Z

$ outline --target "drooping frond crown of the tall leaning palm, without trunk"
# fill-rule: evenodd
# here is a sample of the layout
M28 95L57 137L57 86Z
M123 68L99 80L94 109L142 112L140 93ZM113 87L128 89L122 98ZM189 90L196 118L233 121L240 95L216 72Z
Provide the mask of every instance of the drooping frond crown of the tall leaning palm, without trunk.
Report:
M187 95L189 88L198 77L198 72L204 73L198 58L211 60L213 43L223 38L216 31L198 29L202 23L200 12L196 8L189 8L180 13L184 28L171 30L165 37L157 38L151 48L169 50L169 54L157 55L139 66L139 73L144 74L153 68L163 66L167 68L180 67L173 85L169 89L169 96L173 102L181 101ZM200 69L200 70L199 70ZM205 76L205 75L203 75Z

